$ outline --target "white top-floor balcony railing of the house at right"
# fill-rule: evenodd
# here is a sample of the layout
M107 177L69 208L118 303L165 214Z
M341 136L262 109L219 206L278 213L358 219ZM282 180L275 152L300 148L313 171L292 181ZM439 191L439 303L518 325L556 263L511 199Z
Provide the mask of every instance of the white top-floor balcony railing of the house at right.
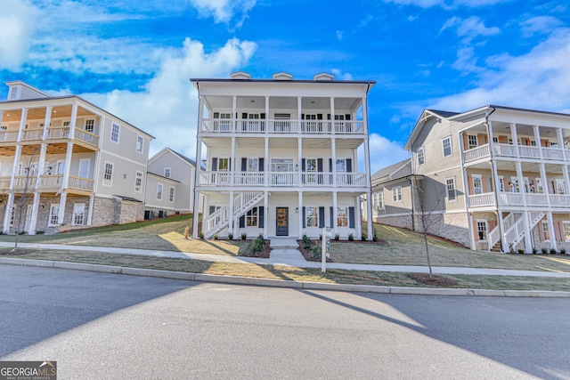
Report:
M463 162L466 164L482 158L490 158L489 144L481 145L463 152ZM530 158L555 161L570 161L570 151L561 148L545 148L529 145L513 145L493 143L493 156L500 158Z

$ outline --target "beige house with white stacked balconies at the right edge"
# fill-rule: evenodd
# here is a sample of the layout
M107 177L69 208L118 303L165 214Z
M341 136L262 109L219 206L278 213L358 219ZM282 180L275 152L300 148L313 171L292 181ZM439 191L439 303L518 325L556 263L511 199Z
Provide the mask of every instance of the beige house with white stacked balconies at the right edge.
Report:
M492 105L424 110L405 149L432 214L440 215L438 235L472 249L531 253L570 248L569 141L570 115ZM417 215L413 195L403 205Z

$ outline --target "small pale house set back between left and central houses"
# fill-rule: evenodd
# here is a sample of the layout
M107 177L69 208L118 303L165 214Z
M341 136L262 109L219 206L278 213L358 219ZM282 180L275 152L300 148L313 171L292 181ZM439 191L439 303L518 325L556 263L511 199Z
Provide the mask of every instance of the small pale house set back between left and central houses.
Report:
M145 218L192 213L196 162L164 148L149 159ZM198 207L198 211L200 211Z

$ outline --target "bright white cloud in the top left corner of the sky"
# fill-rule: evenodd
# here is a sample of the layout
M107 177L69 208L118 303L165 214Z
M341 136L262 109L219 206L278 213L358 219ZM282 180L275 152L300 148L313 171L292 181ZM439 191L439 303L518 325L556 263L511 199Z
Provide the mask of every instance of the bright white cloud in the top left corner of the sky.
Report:
M26 0L4 0L0 12L0 69L20 70L28 57L37 9Z

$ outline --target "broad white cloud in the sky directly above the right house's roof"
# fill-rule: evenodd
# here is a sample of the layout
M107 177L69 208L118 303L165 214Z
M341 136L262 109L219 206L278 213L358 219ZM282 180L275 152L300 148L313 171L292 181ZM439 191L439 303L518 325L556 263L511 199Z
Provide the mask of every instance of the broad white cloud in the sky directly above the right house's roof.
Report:
M464 111L487 104L561 111L570 108L570 29L558 29L529 53L486 60L478 86L428 108Z

